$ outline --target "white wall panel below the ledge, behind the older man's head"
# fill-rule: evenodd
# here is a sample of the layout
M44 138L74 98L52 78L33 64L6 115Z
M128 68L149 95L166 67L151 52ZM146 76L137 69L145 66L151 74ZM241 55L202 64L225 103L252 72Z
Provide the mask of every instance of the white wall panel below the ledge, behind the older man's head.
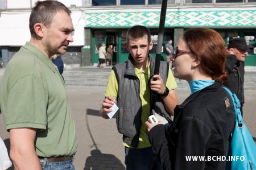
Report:
M22 46L30 40L28 27L30 10L5 11L0 16L0 46ZM70 46L84 45L84 17L82 11L72 11L71 18L75 28L74 42Z

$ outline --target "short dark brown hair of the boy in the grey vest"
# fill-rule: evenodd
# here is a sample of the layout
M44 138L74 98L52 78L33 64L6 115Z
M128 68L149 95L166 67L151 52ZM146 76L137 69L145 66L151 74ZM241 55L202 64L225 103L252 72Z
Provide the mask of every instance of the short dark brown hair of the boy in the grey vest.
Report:
M134 26L129 28L126 33L126 41L129 43L130 39L137 40L147 36L148 44L151 42L150 30L144 26Z

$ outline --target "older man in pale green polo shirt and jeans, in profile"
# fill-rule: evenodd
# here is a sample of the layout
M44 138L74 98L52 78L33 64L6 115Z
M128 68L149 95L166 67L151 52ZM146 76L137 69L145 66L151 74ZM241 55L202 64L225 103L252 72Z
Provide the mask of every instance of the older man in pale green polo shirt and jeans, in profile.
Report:
M59 1L37 1L30 14L30 42L15 53L3 74L0 103L15 169L75 169L75 122L51 61L73 42L70 15Z

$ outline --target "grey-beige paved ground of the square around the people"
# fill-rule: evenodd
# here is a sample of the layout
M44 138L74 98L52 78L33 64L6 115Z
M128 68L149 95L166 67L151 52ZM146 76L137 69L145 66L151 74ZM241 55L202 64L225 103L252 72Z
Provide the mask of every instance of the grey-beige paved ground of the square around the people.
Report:
M245 73L244 120L256 141L256 72ZM2 73L0 71L0 81ZM176 93L182 102L190 90L185 81L177 80ZM67 86L69 101L76 123L79 142L75 157L76 169L125 169L125 149L122 135L118 134L115 119L100 117L100 106L104 99L104 86ZM9 134L5 131L0 114L0 136L10 148ZM13 168L9 168L13 169Z

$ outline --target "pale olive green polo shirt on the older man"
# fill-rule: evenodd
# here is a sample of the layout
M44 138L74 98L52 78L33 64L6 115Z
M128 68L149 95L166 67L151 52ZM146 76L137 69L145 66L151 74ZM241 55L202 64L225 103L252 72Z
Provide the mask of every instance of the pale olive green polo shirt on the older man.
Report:
M7 64L0 88L6 129L36 128L36 154L72 155L77 151L75 123L57 67L27 42Z

